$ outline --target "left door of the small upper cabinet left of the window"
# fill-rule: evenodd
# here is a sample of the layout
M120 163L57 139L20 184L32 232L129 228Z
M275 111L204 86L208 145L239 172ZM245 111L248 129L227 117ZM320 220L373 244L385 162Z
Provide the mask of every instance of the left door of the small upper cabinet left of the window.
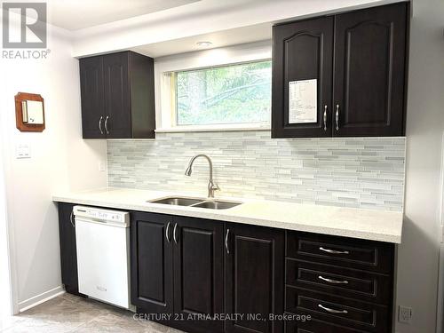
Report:
M102 57L80 59L83 139L105 139Z

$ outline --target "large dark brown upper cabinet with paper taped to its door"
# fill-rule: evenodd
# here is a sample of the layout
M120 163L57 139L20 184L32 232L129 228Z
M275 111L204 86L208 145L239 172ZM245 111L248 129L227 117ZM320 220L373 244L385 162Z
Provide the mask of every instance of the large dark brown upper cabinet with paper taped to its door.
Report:
M399 3L274 26L272 137L405 135L408 25ZM317 109L295 121L289 85L303 80Z

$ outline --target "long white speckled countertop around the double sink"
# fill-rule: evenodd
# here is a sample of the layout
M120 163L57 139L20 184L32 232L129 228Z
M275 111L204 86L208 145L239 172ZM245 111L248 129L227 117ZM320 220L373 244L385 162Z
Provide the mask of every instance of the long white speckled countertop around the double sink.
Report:
M253 226L271 226L380 242L400 243L401 241L402 212L228 197L218 197L216 199L241 201L243 203L227 210L211 210L149 202L166 196L196 197L193 194L178 192L101 188L55 194L52 200L54 202L69 202L119 210L139 210L194 218L209 218Z

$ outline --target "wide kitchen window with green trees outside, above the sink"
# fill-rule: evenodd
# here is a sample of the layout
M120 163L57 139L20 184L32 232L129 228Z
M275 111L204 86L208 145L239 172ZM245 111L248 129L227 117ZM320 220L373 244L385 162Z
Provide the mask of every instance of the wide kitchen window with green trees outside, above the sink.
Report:
M269 126L270 60L170 72L173 127Z

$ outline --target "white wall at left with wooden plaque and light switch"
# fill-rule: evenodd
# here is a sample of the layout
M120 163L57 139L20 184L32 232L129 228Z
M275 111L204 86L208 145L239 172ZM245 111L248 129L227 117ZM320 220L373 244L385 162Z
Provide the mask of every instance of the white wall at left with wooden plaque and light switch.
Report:
M59 190L107 186L104 140L83 140L78 60L63 30L50 27L48 59L1 59L0 135L4 141L5 179L16 292L20 308L59 291L58 212L52 194ZM16 129L14 95L44 97L43 133ZM15 159L18 143L31 146L31 158Z

